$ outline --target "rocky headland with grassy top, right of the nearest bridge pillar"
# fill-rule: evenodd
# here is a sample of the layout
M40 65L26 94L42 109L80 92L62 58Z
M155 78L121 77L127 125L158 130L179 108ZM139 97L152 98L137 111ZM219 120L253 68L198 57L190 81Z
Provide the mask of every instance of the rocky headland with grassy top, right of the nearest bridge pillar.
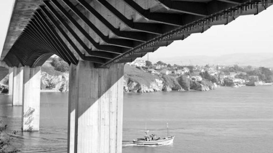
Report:
M125 66L124 92L145 93L155 91L208 91L216 86L210 81L194 81L186 76L154 75L135 67Z

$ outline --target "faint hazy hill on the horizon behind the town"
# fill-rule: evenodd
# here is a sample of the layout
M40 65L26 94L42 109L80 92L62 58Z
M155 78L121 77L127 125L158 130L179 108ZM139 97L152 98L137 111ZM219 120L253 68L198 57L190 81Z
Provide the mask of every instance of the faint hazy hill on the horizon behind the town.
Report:
M157 62L159 60L150 57L151 61ZM160 59L165 63L178 65L234 65L238 63L240 66L264 66L273 68L273 53L236 53L221 56L181 56Z

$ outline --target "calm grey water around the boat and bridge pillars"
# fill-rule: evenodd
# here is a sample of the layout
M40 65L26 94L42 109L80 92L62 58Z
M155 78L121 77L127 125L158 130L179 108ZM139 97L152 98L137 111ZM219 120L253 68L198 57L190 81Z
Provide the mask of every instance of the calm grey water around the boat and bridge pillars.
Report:
M0 117L20 130L21 107L0 95ZM22 152L66 152L67 93L41 93L39 132L19 132ZM175 135L166 146L136 146L145 122L158 136ZM272 152L273 86L222 87L207 92L124 94L123 153Z

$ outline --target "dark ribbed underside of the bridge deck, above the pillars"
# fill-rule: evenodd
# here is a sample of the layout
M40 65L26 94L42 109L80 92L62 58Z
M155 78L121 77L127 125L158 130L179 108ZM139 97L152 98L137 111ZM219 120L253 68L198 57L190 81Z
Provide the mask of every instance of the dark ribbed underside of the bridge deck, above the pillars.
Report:
M240 15L258 14L262 0L20 0L1 59L8 66L41 66L53 54L96 67L131 62Z

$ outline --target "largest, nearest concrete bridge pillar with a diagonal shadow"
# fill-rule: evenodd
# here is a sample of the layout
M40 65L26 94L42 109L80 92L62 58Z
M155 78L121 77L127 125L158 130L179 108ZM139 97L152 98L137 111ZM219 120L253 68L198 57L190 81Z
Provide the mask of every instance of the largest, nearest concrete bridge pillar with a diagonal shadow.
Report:
M70 78L76 82L69 85L72 87L72 90L69 88L70 153L73 150L79 153L122 152L123 68L123 64L95 68L88 61L80 61L77 67L70 66ZM71 128L73 107L75 127ZM70 140L73 130L74 146Z

